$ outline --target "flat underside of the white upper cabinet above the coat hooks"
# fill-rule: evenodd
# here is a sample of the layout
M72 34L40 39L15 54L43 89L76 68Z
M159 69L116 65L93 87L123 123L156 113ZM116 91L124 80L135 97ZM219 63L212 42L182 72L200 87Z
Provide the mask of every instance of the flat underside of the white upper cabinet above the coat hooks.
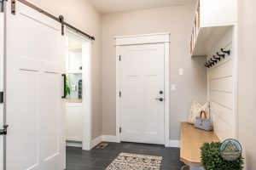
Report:
M224 36L225 32L228 31L230 27L231 26L201 27L198 31L191 57L207 56L207 42L215 44Z

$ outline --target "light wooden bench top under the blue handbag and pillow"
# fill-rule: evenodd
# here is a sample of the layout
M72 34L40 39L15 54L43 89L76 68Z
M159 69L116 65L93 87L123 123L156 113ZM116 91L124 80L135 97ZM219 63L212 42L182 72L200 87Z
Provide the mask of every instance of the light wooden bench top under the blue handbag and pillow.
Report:
M201 167L201 146L205 142L218 142L214 132L206 132L182 122L180 135L180 161L191 167Z

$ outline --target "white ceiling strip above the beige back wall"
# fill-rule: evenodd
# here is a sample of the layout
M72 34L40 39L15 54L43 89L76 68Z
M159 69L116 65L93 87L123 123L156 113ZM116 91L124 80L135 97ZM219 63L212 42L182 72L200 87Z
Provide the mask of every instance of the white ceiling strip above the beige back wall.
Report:
M100 13L137 10L146 8L163 8L174 5L195 3L196 0L88 0Z

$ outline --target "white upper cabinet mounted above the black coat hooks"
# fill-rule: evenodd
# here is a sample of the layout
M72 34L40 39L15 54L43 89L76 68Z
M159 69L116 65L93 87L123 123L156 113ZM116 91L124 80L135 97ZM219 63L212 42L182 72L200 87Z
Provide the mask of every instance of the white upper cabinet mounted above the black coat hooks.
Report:
M190 37L190 54L207 55L207 44L218 42L237 22L237 0L198 0ZM211 42L209 42L211 40Z

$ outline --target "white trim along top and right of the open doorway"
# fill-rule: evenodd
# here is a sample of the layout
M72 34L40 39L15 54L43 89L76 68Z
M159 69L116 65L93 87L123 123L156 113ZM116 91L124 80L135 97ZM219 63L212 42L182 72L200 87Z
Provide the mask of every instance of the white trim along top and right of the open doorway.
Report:
M86 46L88 53L83 54L83 150L91 150L93 148L91 139L91 40L87 37L76 33L72 29L66 28L66 32L69 32L81 39L88 42ZM85 69L86 68L86 69Z

